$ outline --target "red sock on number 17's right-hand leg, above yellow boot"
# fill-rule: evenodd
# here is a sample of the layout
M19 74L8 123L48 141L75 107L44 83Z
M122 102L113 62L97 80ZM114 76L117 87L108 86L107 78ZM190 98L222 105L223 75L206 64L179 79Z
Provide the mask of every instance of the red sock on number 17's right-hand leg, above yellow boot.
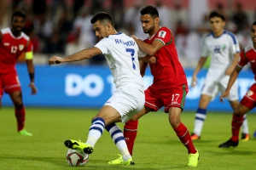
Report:
M195 154L197 151L195 150L195 146L191 140L188 128L185 127L183 123L180 123L179 126L174 129L174 131L176 132L180 141L188 149L188 152Z

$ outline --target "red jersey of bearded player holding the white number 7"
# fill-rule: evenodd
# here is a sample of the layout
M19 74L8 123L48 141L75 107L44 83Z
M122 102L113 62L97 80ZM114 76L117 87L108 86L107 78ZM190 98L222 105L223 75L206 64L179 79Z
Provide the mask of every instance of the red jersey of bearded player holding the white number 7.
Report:
M172 31L167 27L161 27L151 39L147 38L144 42L151 44L154 40L159 40L165 45L154 54L157 59L156 63L150 65L151 74L154 76L152 86L169 88L187 84L183 66L177 57Z

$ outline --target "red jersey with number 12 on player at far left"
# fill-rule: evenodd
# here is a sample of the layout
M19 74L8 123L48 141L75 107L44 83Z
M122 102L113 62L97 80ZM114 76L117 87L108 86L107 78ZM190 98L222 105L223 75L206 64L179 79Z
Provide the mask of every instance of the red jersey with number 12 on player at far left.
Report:
M15 37L10 28L1 30L0 42L0 72L14 69L20 54L32 52L32 42L24 32L20 37Z

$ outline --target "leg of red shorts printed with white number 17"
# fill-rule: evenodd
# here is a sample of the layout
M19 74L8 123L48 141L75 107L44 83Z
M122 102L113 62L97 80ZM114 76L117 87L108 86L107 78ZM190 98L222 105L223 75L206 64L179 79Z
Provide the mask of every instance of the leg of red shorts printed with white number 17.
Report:
M168 113L170 108L180 108L183 111L186 95L189 93L187 84L161 91L161 99L164 102L165 112Z

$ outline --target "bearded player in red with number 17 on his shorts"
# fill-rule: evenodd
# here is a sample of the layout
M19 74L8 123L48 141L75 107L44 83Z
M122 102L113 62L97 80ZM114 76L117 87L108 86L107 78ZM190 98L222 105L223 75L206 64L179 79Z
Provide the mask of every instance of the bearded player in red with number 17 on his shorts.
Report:
M144 42L137 39L137 37L133 38L143 52L151 56L154 55L156 58L155 64L149 64L151 73L154 76L154 82L145 90L146 102L143 110L125 123L125 141L132 155L134 141L137 136L137 120L148 112L158 111L164 106L165 112L169 114L169 122L173 130L188 149L188 166L196 167L199 153L190 138L188 128L180 120L185 97L189 91L186 75L177 57L172 31L166 27L160 27L159 20L158 11L153 6L147 6L141 10L143 31L148 33L149 37ZM147 65L147 63L142 64L142 75ZM108 163L120 164L120 162L122 162L121 158Z

